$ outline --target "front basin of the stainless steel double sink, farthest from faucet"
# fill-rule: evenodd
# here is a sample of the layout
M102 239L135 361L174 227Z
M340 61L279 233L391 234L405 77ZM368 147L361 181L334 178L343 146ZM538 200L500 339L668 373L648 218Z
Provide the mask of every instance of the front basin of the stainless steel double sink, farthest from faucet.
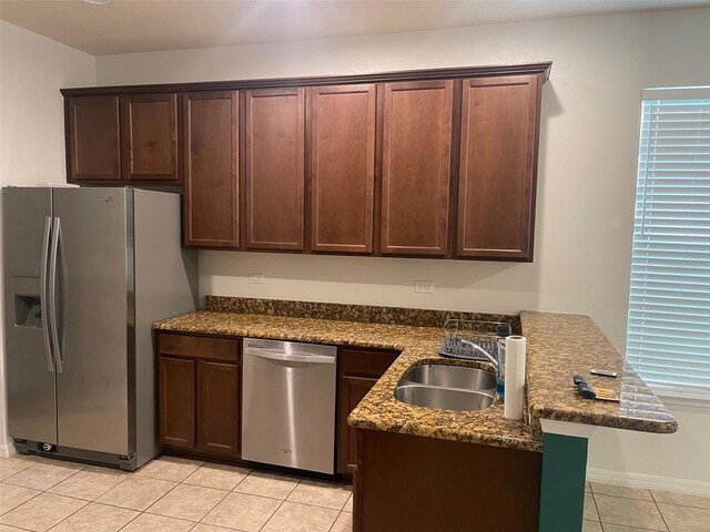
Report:
M418 407L459 411L483 410L494 400L491 395L480 391L424 385L399 385L395 388L395 398Z

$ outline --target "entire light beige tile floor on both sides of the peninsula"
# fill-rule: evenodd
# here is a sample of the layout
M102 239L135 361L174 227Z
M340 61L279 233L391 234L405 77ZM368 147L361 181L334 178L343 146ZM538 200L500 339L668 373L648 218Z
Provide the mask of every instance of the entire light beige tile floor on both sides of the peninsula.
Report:
M161 457L135 473L0 459L0 532L349 532L351 487ZM710 532L710 498L587 484L584 532Z

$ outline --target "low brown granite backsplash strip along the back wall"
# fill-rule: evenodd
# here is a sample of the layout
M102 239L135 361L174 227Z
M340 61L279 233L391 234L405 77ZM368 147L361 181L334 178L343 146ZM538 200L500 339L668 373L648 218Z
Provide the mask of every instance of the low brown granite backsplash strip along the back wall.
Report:
M206 296L205 309L223 313L266 314L303 318L337 319L371 324L444 327L447 319L505 321L514 332L520 331L520 316L507 314L464 313L426 308L381 307L374 305L345 305L339 303L291 301L247 297Z

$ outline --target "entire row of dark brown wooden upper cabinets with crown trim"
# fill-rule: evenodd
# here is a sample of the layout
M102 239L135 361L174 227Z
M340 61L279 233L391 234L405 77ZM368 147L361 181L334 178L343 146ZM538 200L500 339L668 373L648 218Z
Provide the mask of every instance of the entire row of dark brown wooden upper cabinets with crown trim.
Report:
M550 68L63 89L68 180L182 182L187 247L530 262Z

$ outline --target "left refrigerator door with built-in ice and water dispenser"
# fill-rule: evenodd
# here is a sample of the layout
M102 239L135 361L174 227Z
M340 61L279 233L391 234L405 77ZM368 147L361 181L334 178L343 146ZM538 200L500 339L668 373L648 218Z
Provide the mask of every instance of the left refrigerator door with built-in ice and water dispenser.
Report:
M41 308L42 248L51 215L51 188L2 190L9 436L57 443L54 374Z

